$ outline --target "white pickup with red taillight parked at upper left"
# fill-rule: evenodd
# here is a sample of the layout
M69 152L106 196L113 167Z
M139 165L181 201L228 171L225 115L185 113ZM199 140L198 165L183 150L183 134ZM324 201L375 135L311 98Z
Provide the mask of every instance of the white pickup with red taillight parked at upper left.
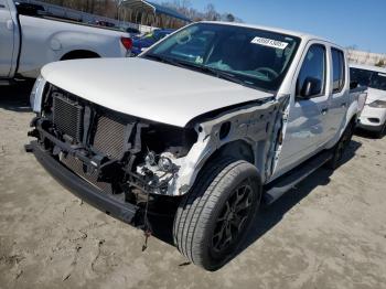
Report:
M128 33L44 17L41 9L0 0L1 83L36 78L41 67L51 62L125 57L131 49Z

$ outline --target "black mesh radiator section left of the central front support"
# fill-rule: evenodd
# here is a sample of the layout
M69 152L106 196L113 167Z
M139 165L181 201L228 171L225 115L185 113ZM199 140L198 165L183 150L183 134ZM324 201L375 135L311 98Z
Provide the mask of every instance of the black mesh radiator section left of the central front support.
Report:
M82 141L83 133L83 107L63 97L62 94L53 94L53 121L56 128L72 137L75 141Z

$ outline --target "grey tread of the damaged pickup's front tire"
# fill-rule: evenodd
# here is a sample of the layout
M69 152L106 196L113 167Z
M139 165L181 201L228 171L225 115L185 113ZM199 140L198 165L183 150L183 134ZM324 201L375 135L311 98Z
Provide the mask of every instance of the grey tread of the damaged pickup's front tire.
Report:
M211 212L221 197L224 188L250 163L234 158L212 161L199 174L191 192L182 200L174 218L174 244L190 261L203 266L203 235Z

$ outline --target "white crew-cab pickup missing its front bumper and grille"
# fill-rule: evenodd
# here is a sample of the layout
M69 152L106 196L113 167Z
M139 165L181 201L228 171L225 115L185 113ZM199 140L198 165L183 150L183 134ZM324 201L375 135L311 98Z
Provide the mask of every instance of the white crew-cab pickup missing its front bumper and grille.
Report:
M136 58L53 63L26 150L124 222L148 231L171 214L179 250L215 270L261 203L340 164L366 97L345 55L302 33L200 22Z

